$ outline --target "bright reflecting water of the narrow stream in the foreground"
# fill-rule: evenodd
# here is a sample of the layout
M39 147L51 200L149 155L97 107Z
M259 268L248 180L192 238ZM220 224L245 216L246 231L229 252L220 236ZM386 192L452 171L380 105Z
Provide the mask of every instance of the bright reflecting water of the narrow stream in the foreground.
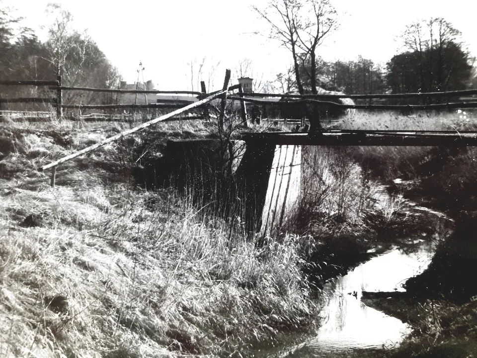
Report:
M419 240L411 251L393 248L327 283L318 335L290 357L381 357L410 327L361 302L362 291L404 291L402 283L431 262L436 242ZM354 295L353 295L354 293Z

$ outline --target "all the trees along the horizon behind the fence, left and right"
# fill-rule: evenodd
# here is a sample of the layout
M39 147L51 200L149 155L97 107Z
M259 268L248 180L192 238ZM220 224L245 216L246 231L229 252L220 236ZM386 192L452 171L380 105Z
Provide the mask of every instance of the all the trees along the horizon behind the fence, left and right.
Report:
M329 62L319 56L319 46L340 25L340 14L330 0L270 0L264 8L253 9L269 25L269 37L286 47L292 59L290 68L272 81L264 81L263 76L255 79L255 91L305 94L323 88L368 94L477 88L474 58L461 41L461 32L443 18L407 25L400 35L401 53L381 65L363 57ZM118 88L117 68L86 32L74 28L73 15L61 5L47 6L45 42L13 13L0 0L0 79L52 80L60 75L64 86ZM204 60L196 69L191 61L192 86L194 74L201 74L203 65ZM237 77L253 76L250 68L251 60L241 61ZM45 90L4 88L0 95L41 96ZM67 91L63 100L66 104L109 104L117 98L108 93Z

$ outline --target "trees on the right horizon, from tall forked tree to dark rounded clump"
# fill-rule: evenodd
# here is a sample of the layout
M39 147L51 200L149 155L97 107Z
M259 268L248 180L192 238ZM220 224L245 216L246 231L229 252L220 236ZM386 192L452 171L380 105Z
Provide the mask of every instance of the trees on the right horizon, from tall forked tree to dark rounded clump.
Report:
M276 76L275 89L369 94L477 88L475 59L461 32L444 18L407 25L400 35L403 51L382 66L361 56L333 62L319 57L319 45L339 27L340 16L330 0L270 0L253 9L268 24L269 37L291 53L292 66Z

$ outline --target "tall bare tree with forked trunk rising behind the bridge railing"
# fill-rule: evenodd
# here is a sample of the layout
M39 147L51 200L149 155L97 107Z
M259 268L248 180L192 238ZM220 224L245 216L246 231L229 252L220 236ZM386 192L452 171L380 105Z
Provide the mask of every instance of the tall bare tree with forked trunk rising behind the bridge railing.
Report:
M270 0L265 9L253 9L270 26L269 37L292 53L296 86L305 93L300 68L311 63L311 90L317 93L316 52L323 40L338 26L338 14L329 0Z

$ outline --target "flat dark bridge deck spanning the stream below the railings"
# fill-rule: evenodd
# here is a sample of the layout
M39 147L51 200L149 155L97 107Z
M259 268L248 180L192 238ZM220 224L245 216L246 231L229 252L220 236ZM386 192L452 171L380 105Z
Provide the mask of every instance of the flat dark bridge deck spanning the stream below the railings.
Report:
M477 131L334 130L320 132L247 133L246 142L326 146L477 146Z

